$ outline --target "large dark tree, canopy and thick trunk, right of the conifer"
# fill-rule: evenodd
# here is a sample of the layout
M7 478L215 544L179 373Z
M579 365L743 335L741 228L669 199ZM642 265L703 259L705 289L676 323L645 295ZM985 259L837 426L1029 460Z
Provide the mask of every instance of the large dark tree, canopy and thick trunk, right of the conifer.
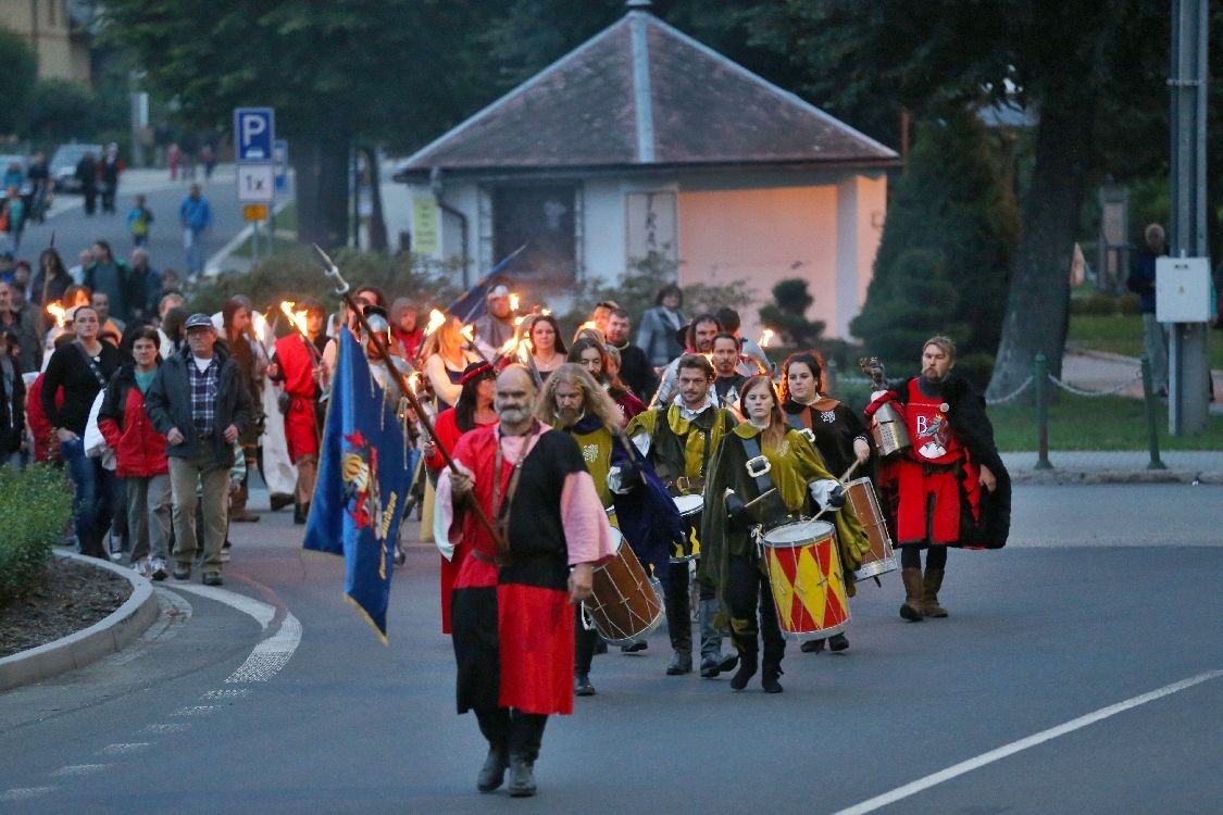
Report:
M1020 385L1037 352L1060 374L1081 204L1107 170L1099 133L1109 127L1141 154L1167 147L1126 139L1135 132L1129 122L1103 114L1123 98L1128 110L1167 105L1168 7L1167 0L780 0L757 10L759 42L790 53L810 77L807 92L838 115L852 114L850 121L894 121L901 108L931 115L982 95L1038 116L993 395Z

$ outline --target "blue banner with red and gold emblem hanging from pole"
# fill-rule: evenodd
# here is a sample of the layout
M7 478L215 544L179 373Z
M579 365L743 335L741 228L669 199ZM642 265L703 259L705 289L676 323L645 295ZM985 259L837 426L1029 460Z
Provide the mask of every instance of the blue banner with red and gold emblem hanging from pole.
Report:
M344 596L386 641L395 539L419 453L361 345L340 331L305 547L344 555Z

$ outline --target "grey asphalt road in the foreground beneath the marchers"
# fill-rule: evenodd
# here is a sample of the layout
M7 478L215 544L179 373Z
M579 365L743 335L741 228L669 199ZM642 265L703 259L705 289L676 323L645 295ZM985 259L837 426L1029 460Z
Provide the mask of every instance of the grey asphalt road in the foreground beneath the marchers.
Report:
M1015 497L1005 550L951 552L948 619L903 622L895 573L862 584L850 650L791 644L780 695L664 676L663 630L597 657L531 803L475 789L433 550L396 572L383 646L340 563L264 513L223 593L169 585L132 648L0 695L0 813L1219 811L1223 488Z

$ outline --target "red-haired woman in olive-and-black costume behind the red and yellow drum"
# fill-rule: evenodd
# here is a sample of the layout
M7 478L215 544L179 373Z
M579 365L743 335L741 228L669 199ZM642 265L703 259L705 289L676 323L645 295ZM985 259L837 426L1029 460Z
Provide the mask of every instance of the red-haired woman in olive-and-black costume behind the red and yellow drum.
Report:
M813 499L835 510L844 502L844 491L802 434L786 425L768 376L757 375L744 382L739 408L747 422L722 440L709 467L701 534L706 546L702 568L713 580L723 606L729 609L730 637L741 657L739 672L730 681L731 689L742 690L756 673L758 634L762 634L761 685L766 693L780 693L778 678L785 640L778 624L772 584L757 552L753 527L767 528L801 516L811 517L815 514ZM851 543L849 549L855 554L856 566L867 551L862 528L840 522L838 532L841 529Z

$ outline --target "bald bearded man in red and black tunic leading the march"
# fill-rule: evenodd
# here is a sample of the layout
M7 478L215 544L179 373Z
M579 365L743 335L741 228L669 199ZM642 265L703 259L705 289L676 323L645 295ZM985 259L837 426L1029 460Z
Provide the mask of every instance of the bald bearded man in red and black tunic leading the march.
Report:
M478 789L500 787L509 769L515 797L536 792L548 716L574 711L570 605L591 596L593 566L615 552L577 442L533 418L534 398L526 368L503 370L500 423L464 435L453 453L460 472L438 479L451 541L467 544L450 600L459 712L473 710L488 739Z

